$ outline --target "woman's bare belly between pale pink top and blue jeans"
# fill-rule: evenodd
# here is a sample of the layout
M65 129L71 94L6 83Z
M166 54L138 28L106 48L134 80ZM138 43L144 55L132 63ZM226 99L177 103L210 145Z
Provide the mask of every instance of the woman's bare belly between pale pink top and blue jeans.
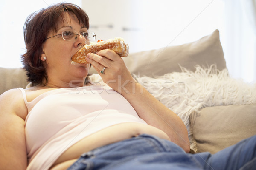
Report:
M142 123L121 123L107 127L80 140L62 153L50 170L64 170L67 167L70 167L82 153L86 153L107 144L129 139L143 133L170 140L166 133L151 125Z

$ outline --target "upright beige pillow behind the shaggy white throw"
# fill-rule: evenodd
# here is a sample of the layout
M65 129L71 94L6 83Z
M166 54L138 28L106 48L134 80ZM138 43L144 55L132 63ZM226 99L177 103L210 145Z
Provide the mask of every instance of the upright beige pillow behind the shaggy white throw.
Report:
M191 71L195 71L195 65L216 64L219 70L226 68L218 30L195 42L131 53L123 60L132 74L149 77L181 72L180 66ZM96 71L92 67L89 73Z

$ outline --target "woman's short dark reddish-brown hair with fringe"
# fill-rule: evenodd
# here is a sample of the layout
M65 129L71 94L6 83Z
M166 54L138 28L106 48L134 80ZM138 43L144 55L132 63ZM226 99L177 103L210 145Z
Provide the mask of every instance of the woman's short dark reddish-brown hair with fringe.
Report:
M41 62L43 43L50 30L57 31L58 21L64 12L73 13L80 24L89 29L89 17L79 6L71 3L58 3L35 12L26 19L23 27L26 53L21 56L24 68L27 71L28 81L32 86L46 85L48 77L46 65ZM46 82L43 84L43 79Z

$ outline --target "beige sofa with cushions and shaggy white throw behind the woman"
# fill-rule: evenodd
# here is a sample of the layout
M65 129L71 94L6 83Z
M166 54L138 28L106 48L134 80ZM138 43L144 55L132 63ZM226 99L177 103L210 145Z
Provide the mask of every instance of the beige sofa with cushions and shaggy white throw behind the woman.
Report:
M185 123L192 153L216 153L256 134L256 84L229 76L219 31L195 42L131 53L127 68ZM91 81L101 81L90 69ZM26 88L23 68L0 68L0 94Z

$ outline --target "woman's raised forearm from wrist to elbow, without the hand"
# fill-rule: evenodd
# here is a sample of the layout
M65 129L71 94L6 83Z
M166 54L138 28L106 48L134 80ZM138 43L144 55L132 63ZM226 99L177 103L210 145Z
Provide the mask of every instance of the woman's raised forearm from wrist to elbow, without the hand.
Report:
M139 83L136 82L135 85L127 84L124 87L126 91L121 92L122 96L130 102L140 118L148 125L163 130L172 142L189 152L188 132L180 117L154 98Z

